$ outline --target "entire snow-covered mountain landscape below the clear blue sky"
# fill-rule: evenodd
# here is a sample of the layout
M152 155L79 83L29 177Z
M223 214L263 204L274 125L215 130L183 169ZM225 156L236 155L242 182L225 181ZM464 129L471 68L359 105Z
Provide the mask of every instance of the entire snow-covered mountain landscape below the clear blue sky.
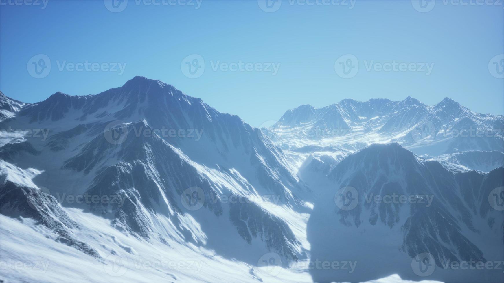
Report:
M448 98L305 105L260 130L137 76L34 104L0 93L0 115L0 249L47 263L6 281L504 279L443 268L504 260L488 198L504 186L504 117Z

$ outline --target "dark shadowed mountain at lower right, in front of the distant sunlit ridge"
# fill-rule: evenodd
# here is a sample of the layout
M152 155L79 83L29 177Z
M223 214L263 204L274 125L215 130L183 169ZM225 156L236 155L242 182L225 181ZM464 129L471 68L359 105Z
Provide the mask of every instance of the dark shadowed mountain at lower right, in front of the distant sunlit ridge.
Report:
M504 280L502 269L474 267L504 260L504 215L489 203L504 186L504 168L454 173L390 143L349 155L327 178L319 171L311 180L320 188L307 227L311 257L358 262L354 272L313 269L315 281L391 273L445 282ZM418 255L428 255L430 263L415 269Z

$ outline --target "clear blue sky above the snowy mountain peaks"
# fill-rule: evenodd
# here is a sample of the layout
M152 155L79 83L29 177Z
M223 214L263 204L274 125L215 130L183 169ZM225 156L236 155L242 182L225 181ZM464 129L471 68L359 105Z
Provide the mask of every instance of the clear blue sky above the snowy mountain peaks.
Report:
M492 76L488 67L490 59L504 53L502 6L438 1L421 13L409 0L357 0L353 9L283 0L278 11L267 13L256 0L203 0L199 9L140 3L130 1L119 13L107 10L102 0L49 0L45 9L0 6L0 89L34 103L56 91L96 94L142 75L253 126L302 104L324 107L345 98L412 96L433 105L450 97L477 112L504 114L504 79ZM37 54L50 58L51 71L44 78L28 72ZM181 71L182 60L191 54L205 61L198 78ZM358 59L352 78L335 72L344 54ZM58 62L86 60L126 65L122 74L58 68ZM275 75L212 68L217 61L240 60L280 67ZM429 75L367 71L371 60L434 65Z

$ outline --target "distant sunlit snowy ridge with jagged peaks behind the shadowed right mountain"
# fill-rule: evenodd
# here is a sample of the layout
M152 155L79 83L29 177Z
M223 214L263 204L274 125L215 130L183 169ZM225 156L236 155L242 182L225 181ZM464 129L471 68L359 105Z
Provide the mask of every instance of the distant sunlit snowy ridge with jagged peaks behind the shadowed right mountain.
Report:
M282 149L301 151L291 159L300 167L309 154L352 153L372 143L398 142L416 154L478 150L504 152L504 117L478 114L445 98L426 106L403 101L351 99L316 109L303 105L287 111L265 133Z

